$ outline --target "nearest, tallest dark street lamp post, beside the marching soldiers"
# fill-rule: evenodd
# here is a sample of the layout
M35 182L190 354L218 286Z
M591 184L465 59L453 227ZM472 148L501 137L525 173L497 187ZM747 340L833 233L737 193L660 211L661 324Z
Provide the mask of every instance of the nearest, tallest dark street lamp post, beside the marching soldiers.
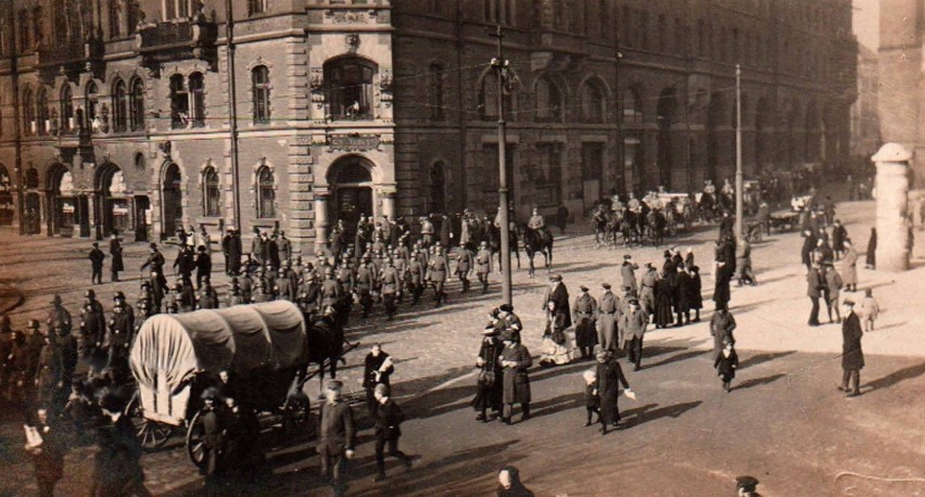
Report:
M505 77L509 62L504 59L504 34L502 27L497 26L493 35L498 39L497 56L492 60L492 68L497 74L497 110L498 110L498 220L500 226L500 265L502 265L502 294L505 304L512 305L510 284L510 201L507 188L507 123L504 120L504 92Z

